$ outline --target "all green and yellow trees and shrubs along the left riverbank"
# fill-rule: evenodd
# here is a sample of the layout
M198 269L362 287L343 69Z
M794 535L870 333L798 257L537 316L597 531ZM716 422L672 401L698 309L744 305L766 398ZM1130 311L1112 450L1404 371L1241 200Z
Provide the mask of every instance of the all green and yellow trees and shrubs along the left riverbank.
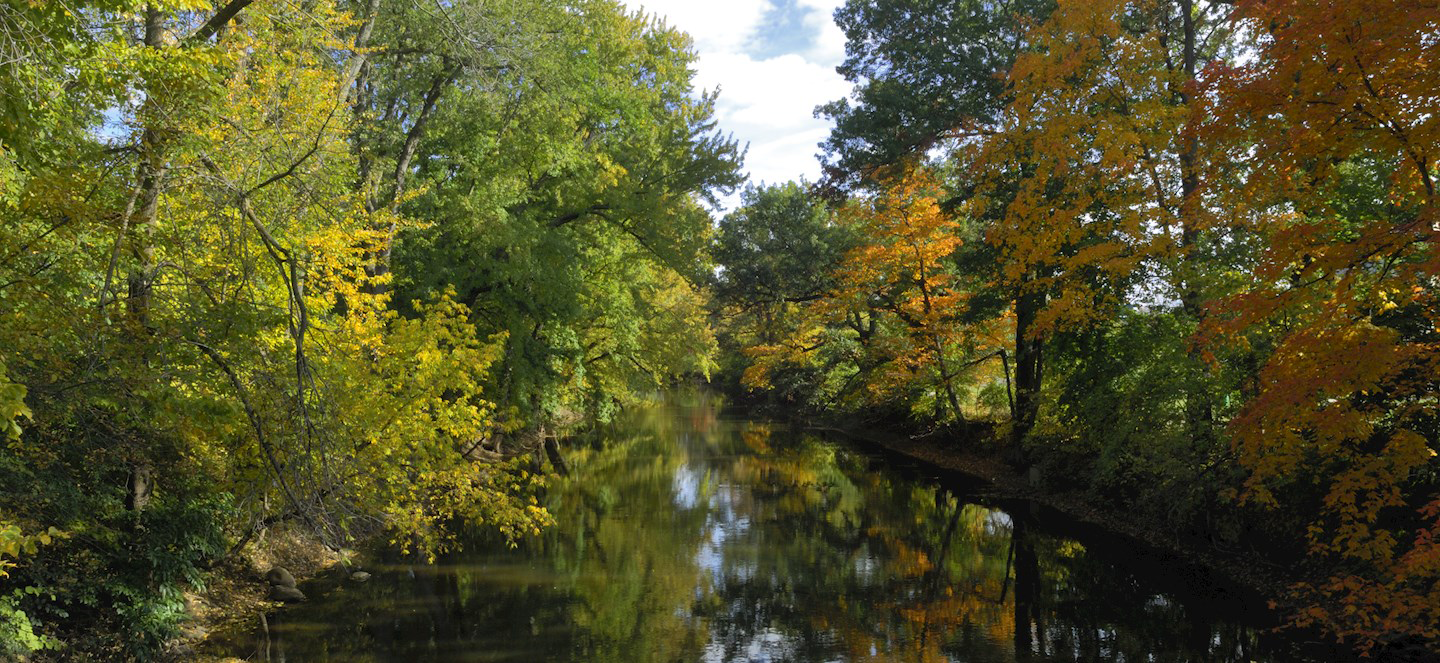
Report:
M711 363L691 58L606 0L0 3L0 659L154 659L281 523L550 523L524 451Z

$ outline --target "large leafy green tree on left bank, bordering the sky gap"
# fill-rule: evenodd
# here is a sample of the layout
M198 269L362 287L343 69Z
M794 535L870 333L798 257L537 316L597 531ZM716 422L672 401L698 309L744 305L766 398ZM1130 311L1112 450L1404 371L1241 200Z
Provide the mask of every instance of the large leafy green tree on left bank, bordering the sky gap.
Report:
M706 373L701 203L739 182L740 151L691 89L687 39L611 3L467 7L446 29L465 49L498 40L485 53L498 61L432 78L446 102L415 141L416 196L400 205L429 225L396 236L397 300L454 285L482 334L504 333L487 386L530 431ZM487 36L497 22L482 17L511 10L500 25L531 27ZM468 58L412 55L415 29L376 33L393 52L369 78L376 110L423 110L408 68ZM406 133L403 115L366 112L366 131Z

